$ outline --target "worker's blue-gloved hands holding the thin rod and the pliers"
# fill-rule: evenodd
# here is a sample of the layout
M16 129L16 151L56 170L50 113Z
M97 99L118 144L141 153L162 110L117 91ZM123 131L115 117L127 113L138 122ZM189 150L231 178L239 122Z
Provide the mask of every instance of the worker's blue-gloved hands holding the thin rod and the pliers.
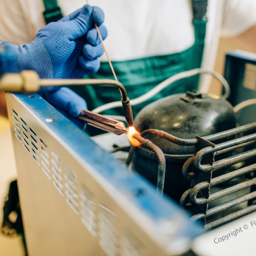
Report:
M44 78L82 78L99 70L99 59L104 49L94 23L99 26L103 39L107 30L102 24L104 13L98 7L84 6L59 22L52 22L40 29L29 44L20 47L3 42L2 47L14 56L13 65L5 65L9 73L34 70ZM4 58L2 58L4 61ZM4 65L2 65L4 66ZM47 101L62 110L70 119L77 117L86 102L72 90L62 87L45 87L41 93ZM67 114L66 114L67 113ZM84 122L72 119L84 127Z

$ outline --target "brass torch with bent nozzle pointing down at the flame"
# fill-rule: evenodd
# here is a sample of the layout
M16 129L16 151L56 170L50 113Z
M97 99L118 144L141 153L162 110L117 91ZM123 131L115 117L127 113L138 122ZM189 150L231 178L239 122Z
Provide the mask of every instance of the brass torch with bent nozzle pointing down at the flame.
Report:
M37 93L41 87L67 85L113 85L119 88L125 119L129 126L133 125L130 99L125 87L119 81L112 79L39 79L34 71L26 70L20 74L5 74L0 79L0 91L12 93Z

